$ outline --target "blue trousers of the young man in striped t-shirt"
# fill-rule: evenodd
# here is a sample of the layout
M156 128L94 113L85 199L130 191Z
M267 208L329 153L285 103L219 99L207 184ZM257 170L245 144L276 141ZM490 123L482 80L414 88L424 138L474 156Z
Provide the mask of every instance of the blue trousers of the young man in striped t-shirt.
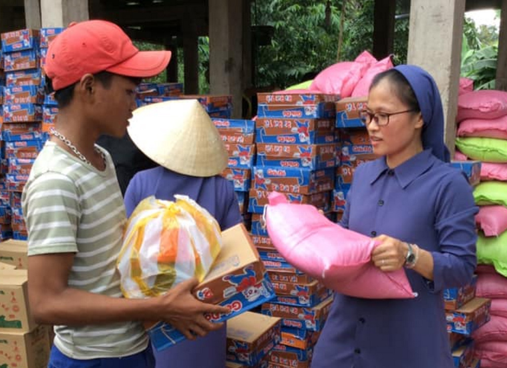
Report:
M48 368L155 368L151 344L140 353L122 358L73 359L62 354L54 345Z

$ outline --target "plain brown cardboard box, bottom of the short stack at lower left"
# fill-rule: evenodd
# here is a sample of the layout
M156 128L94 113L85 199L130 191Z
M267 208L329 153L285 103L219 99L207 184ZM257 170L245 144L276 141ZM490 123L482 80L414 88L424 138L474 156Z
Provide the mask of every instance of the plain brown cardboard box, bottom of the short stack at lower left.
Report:
M0 332L0 366L5 368L46 368L49 360L48 327L30 333Z

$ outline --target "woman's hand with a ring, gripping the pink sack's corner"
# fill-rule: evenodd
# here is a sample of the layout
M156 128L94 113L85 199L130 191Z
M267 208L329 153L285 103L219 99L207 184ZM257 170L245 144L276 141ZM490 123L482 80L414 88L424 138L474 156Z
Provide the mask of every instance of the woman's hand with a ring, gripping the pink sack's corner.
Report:
M407 243L387 235L377 236L373 240L380 243L372 251L372 262L376 267L384 272L403 268L408 253Z

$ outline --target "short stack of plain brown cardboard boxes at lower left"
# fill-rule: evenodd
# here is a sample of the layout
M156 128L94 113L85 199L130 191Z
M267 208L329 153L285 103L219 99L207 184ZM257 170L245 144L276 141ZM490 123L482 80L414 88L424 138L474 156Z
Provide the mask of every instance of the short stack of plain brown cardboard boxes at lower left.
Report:
M30 316L26 243L0 243L0 366L45 368L51 348L48 326Z

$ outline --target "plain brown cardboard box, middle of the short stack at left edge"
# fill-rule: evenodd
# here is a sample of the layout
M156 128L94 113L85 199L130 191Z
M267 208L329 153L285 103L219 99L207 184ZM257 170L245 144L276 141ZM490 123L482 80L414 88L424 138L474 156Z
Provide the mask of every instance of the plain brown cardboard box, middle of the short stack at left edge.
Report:
M28 307L26 270L0 271L0 330L29 332L37 325Z

